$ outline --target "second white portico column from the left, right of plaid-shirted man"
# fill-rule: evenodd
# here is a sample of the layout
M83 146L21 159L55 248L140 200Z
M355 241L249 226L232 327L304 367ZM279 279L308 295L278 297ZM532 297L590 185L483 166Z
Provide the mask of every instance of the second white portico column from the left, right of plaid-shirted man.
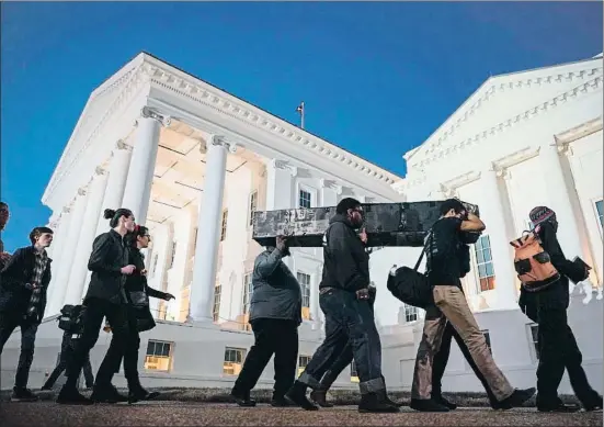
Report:
M64 304L72 304L73 302L79 303L79 300L67 301L67 289L69 276L71 269L73 268L73 257L76 255L76 246L78 244L78 238L81 233L82 222L84 218L86 205L87 205L87 191L84 189L79 189L76 195L76 201L73 203L73 211L71 213L71 220L69 225L69 233L66 236L65 241L61 243L64 246L61 257L60 257L60 267L58 269L57 280L56 280L56 293L55 293L55 303L57 308L60 310ZM54 262L53 262L54 263Z

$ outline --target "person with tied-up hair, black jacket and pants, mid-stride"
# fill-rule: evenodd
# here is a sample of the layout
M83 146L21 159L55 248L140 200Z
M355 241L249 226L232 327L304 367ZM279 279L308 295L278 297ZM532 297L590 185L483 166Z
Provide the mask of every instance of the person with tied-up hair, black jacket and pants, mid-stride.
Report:
M135 218L132 211L124 207L117 211L106 209L103 216L110 220L111 229L99 235L92 244L92 254L88 261L92 277L83 300L83 330L67 368L67 382L57 396L57 403L61 404L89 405L94 402L115 403L127 400L111 383L116 366L114 352L107 351L105 355L96 372L90 400L76 387L87 355L96 344L105 317L111 323L113 339L116 339L119 353L124 353L124 373L128 389L135 391L139 385L136 371L137 351L129 345L133 335L124 289L126 278L136 269L128 262L128 249L124 241L126 233L134 231Z

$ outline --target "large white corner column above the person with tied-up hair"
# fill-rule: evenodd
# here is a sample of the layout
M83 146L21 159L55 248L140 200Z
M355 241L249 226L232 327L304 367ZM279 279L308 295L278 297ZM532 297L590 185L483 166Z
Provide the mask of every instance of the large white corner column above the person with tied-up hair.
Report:
M136 143L121 207L132 210L138 224L145 224L147 220L162 120L162 116L143 109L143 115L137 121Z

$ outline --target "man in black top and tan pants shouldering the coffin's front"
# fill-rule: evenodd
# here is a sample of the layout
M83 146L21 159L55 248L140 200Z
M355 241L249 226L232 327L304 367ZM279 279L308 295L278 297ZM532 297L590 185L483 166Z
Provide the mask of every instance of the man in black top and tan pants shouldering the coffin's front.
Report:
M447 412L448 407L432 397L434 355L438 351L446 323L451 322L468 347L478 370L485 377L493 395L505 407L521 406L535 393L535 389L515 390L495 364L485 336L468 306L461 291L461 246L465 232L479 233L486 226L474 213L468 212L457 199L441 204L441 217L428 236L428 284L432 290L434 304L426 306L423 337L418 348L411 408L420 412Z

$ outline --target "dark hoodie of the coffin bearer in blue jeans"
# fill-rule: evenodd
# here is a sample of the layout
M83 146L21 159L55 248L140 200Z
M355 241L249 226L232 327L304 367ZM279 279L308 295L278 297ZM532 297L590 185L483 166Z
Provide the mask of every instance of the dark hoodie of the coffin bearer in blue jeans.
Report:
M319 288L356 292L369 285L369 256L344 215L334 215L323 238L323 276Z

